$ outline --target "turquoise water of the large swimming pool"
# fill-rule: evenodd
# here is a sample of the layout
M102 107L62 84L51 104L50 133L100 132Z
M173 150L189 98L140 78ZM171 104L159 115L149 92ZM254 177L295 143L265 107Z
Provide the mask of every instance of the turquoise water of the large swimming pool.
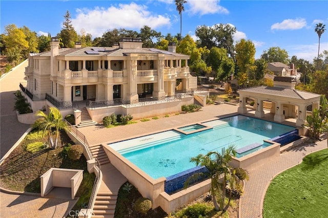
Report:
M190 158L199 154L207 154L213 150L221 152L231 144L236 145L238 149L253 143L260 143L262 146L255 149L258 150L270 146L269 143L263 143L263 140L295 129L292 126L242 115L203 124L213 128L189 135L169 130L116 142L109 146L153 179L157 179L195 167L196 165L190 162ZM254 150L239 154L239 157L250 152Z

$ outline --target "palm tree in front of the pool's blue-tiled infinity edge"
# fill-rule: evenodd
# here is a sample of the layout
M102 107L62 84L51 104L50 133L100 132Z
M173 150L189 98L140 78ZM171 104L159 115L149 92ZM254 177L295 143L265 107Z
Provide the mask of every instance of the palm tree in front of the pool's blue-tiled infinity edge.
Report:
M232 197L231 191L229 192L229 202L224 206L227 183L230 190L233 190L238 187L241 180L248 179L247 171L242 168L234 168L229 164L232 160L232 156L236 156L236 150L235 146L230 145L224 151L224 154L220 154L218 151L210 151L206 155L200 154L190 160L196 163L197 166L205 166L208 172L195 173L187 179L185 187L201 177L211 178L210 192L216 210L226 211L229 207ZM217 197L219 198L217 199Z

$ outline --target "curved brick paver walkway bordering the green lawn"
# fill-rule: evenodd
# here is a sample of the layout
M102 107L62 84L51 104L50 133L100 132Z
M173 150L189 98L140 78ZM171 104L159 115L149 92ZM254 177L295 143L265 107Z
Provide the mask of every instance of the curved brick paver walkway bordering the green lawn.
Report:
M279 157L249 170L241 197L241 218L262 217L262 203L269 182L280 172L299 164L304 156L327 147L327 139L316 144L305 144L283 152Z

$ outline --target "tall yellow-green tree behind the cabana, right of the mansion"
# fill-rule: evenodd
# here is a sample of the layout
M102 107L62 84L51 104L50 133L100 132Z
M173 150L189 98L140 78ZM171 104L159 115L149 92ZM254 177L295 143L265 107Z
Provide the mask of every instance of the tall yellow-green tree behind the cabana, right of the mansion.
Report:
M251 40L241 39L236 43L236 61L240 72L248 73L254 69L255 46Z

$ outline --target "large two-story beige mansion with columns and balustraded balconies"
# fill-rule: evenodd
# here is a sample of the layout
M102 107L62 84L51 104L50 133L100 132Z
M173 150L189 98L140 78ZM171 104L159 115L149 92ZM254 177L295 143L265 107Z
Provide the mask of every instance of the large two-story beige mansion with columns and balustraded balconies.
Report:
M73 108L81 108L81 101L85 101L94 121L102 117L94 117L95 112L90 110L99 105L116 106L102 111L103 114L131 112L142 117L145 110L151 110L159 115L181 110L183 99L181 95L175 98L176 91L197 89L197 77L189 72L189 56L176 53L174 42L169 44L169 51L142 48L139 38L121 38L119 45L113 47L82 48L76 43L75 48L60 49L58 38L52 37L50 46L51 51L30 54L25 70L27 86L20 85L33 111L43 106L56 106L65 116L72 114ZM166 102L170 98L180 103L171 109L172 105L162 105L161 108L168 109L166 112L154 112L158 108L129 111L132 105L138 105L145 98ZM193 98L189 101L192 103Z

